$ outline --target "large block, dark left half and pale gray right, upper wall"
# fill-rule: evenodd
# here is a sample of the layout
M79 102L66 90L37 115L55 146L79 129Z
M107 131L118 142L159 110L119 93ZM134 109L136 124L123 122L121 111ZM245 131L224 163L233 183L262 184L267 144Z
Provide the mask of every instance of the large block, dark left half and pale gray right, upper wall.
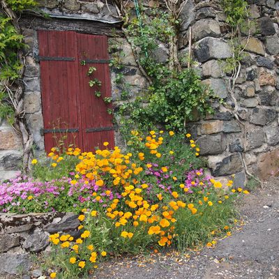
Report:
M225 59L232 56L232 50L228 43L218 38L204 38L199 40L194 50L195 57L199 62L209 59Z

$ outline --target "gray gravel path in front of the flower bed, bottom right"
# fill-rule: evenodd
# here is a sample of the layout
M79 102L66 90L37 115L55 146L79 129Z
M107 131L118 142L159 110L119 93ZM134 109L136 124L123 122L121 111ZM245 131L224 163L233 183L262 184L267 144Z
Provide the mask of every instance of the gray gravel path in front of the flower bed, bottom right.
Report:
M100 266L92 279L279 279L279 179L241 202L245 225L190 258L176 253L120 259Z

